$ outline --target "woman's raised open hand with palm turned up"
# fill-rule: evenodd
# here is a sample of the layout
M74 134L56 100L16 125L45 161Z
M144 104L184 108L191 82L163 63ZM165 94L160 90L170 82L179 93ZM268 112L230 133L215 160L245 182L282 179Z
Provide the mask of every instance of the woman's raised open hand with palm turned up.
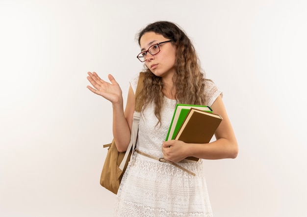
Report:
M111 103L118 103L123 100L122 89L112 75L108 75L108 79L111 81L111 83L109 83L103 81L96 72L88 72L87 74L89 75L87 80L90 81L94 87L87 86L90 91L102 96Z

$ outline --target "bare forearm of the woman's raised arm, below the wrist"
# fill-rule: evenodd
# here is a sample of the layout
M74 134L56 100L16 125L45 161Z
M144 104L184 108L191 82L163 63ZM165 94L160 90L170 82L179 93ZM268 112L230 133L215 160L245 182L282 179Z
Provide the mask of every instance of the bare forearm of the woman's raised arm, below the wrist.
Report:
M130 142L130 128L125 117L123 103L112 104L113 107L113 137L119 152L127 150Z

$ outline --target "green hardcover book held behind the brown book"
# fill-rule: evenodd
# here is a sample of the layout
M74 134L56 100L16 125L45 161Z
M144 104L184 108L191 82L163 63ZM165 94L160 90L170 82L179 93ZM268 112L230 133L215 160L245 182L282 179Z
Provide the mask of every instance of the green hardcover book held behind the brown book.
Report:
M212 113L212 109L208 106L177 104L165 141L175 139L185 117L187 116L191 108L200 109Z

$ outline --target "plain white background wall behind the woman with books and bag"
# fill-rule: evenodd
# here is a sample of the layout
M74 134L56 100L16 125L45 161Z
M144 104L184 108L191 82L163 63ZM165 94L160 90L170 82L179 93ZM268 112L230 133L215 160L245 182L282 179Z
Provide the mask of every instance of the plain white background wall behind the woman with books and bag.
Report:
M172 21L224 91L235 160L205 161L215 217L307 216L305 0L1 0L0 216L110 216L99 184L111 104L143 65L135 34Z

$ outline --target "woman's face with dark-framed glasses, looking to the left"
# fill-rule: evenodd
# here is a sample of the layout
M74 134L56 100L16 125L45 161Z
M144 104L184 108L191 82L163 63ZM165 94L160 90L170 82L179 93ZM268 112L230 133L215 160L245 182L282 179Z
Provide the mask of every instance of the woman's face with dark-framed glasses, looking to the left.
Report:
M150 46L164 41L169 41L169 39L152 31L146 32L140 39L141 52L147 51ZM176 47L172 42L160 44L159 47L160 52L155 55L147 52L145 64L155 76L173 77L176 71Z

